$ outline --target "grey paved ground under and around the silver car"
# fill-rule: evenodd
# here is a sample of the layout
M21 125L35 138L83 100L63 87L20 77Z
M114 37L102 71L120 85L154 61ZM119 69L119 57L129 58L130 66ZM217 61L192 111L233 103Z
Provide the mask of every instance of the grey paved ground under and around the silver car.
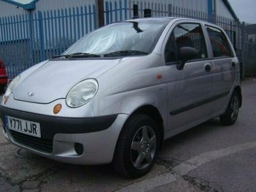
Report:
M243 81L236 125L218 118L165 142L145 177L125 180L110 165L76 166L29 154L0 134L0 191L256 191L256 81Z

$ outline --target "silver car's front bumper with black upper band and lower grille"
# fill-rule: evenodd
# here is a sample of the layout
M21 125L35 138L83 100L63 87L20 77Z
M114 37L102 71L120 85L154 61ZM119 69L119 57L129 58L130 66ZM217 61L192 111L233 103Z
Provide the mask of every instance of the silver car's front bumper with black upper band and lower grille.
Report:
M4 125L5 115L38 122L41 129L41 138L35 138L4 127L4 136L9 141L35 154L72 164L110 163L120 130L128 118L128 115L123 114L66 118L0 106L0 116ZM77 154L76 143L83 145L82 154Z

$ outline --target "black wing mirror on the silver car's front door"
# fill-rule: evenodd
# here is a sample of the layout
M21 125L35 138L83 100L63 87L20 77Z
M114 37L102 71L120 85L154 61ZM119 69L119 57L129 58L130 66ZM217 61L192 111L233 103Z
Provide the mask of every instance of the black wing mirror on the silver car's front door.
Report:
M193 47L181 47L179 50L180 53L180 63L177 64L177 69L182 70L186 61L194 60L198 57L198 51Z

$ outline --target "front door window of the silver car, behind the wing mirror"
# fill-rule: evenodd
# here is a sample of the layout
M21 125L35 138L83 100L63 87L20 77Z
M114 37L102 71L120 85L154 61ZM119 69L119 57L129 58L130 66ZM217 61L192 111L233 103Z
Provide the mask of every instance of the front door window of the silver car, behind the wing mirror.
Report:
M173 29L164 52L166 62L179 61L181 47L195 48L198 51L197 59L208 57L204 33L200 24L179 24Z

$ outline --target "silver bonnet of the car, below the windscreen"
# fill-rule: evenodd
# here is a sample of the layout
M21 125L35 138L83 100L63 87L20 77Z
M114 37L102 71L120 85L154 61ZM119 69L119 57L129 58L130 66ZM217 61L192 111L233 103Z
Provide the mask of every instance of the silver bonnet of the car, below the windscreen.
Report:
M48 61L26 77L21 74L20 83L13 90L13 98L42 104L65 98L75 84L84 79L97 78L128 59ZM34 94L29 96L29 93Z

